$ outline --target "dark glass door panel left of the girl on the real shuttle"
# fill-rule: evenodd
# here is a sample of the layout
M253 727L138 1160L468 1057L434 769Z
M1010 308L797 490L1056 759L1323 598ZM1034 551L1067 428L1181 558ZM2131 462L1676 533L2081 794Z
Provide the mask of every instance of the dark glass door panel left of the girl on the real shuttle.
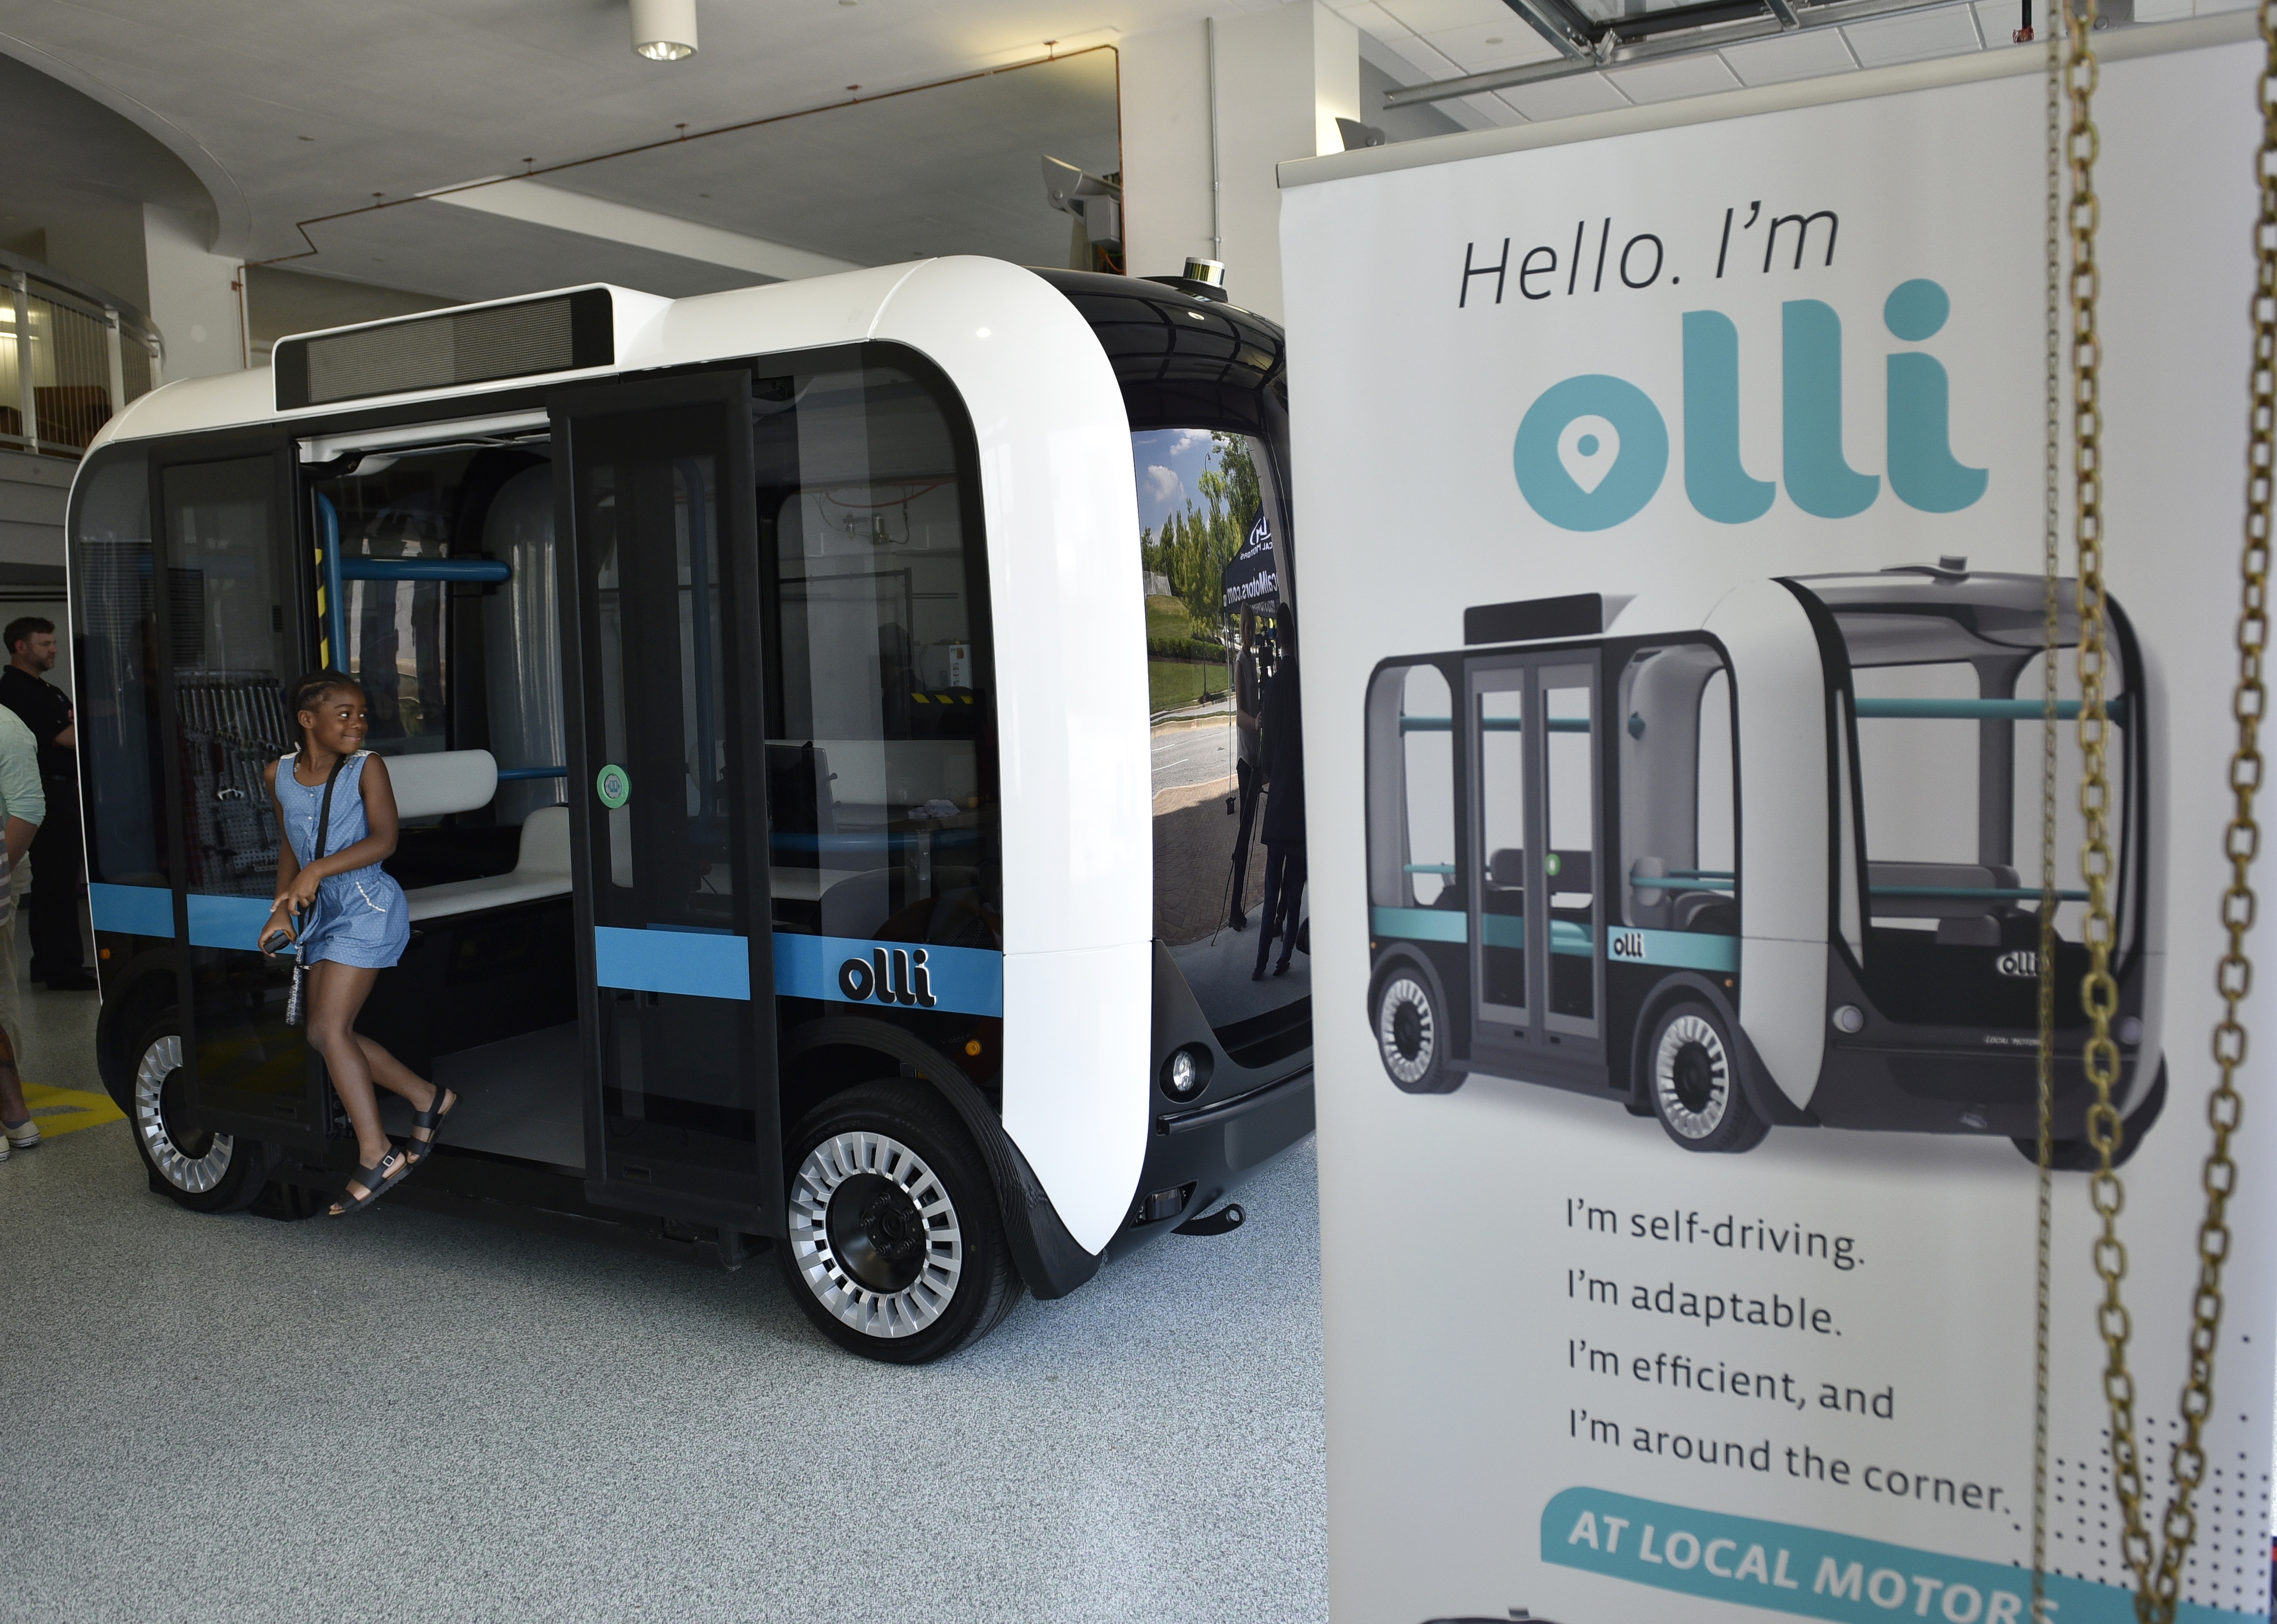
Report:
M173 918L148 934L173 936L180 957L198 1121L307 1150L328 1132L323 1066L285 1025L291 961L264 959L255 936L280 840L262 770L296 743L285 690L314 663L314 565L298 544L289 444L246 451L150 465Z

